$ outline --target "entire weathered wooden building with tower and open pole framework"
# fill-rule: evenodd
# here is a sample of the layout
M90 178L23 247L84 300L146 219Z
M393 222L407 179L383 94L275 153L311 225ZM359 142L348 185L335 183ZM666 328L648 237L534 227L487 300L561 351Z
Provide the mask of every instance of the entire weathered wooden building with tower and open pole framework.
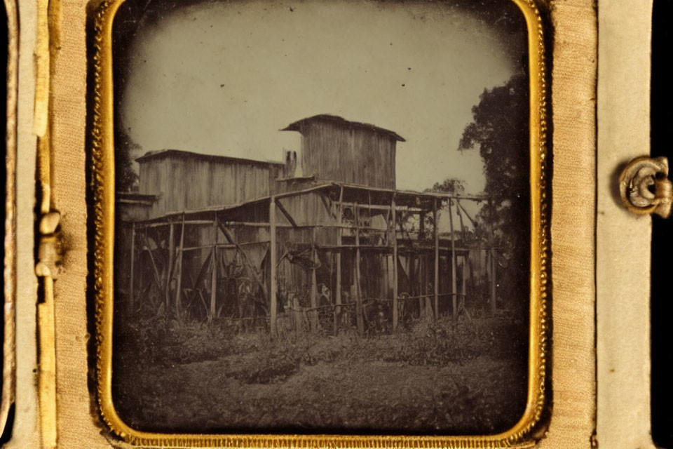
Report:
M392 152L388 180L380 173L370 185L324 180L348 175L337 161L315 159L318 149L307 143L320 140L314 126L335 128L329 135L337 141L339 133L388 140L370 152ZM461 201L485 198L395 190L395 142L404 140L390 131L332 116L291 127L306 133L301 161L310 176L292 176L294 154L285 163L175 150L140 158L142 193L118 197L125 236L117 239L116 286L128 313L164 304L176 316L263 326L272 335L344 326L361 335L395 331L412 318L455 318L467 279L480 276L469 268L480 257L489 261L479 264L487 266L495 305L495 249L468 248L463 238ZM369 158L362 153L370 149L358 147L347 163ZM376 185L386 182L393 187ZM449 210L449 232L437 226L442 210Z

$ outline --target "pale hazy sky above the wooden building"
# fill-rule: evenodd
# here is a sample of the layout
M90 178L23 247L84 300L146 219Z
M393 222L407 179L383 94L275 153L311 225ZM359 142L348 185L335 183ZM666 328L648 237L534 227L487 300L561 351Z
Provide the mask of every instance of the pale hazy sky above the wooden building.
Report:
M484 189L477 149L458 152L484 88L517 70L498 34L447 6L245 1L188 6L140 27L121 121L140 145L280 161L315 114L402 135L397 188L449 177Z

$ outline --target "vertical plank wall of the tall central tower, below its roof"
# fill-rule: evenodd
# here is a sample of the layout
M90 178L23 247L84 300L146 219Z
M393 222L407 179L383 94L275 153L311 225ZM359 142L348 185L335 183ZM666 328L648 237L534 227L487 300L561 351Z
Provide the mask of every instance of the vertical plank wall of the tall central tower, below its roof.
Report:
M395 189L395 138L333 121L301 128L301 167L316 180Z

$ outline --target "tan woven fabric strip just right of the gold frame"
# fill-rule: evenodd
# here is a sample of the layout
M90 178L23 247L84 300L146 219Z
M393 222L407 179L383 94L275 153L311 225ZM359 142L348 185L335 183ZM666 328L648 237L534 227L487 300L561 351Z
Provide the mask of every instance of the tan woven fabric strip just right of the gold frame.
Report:
M590 1L552 4L552 419L541 448L594 431L597 23Z

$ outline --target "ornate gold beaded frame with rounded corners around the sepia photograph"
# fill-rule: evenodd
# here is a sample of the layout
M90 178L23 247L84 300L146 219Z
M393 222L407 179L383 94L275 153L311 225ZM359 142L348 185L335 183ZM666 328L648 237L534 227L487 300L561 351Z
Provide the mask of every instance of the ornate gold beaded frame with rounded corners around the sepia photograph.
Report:
M125 0L104 0L95 8L93 36L93 248L96 301L97 401L104 422L119 443L143 447L226 448L503 448L531 447L533 427L546 400L548 281L550 279L547 83L543 18L536 0L512 0L528 27L530 71L531 305L529 387L526 410L514 427L486 436L350 436L287 434L158 434L132 429L112 403L112 318L114 253L114 142L111 32Z

